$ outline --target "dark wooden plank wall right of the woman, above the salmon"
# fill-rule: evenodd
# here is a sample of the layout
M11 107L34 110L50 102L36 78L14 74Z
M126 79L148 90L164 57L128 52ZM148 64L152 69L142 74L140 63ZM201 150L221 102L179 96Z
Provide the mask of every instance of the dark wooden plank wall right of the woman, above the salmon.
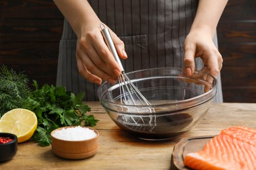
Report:
M224 101L256 103L256 1L228 1L217 31Z

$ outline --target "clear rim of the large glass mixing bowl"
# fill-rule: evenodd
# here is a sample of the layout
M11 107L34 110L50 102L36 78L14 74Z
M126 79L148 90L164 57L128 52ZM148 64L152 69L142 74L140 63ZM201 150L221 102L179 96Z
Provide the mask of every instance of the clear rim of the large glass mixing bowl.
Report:
M141 69L141 70L137 70L137 71L131 71L131 72L129 72L129 73L126 73L126 75L129 75L129 74L135 74L135 73L137 73L137 72L142 72L142 71L152 71L152 70L160 70L160 69L173 69L173 70L180 70L181 71L181 73L183 73L184 72L184 70L182 69L182 68L180 68L180 67L158 67L158 68L151 68L151 69ZM190 98L190 99L184 99L184 100L182 100L182 101L175 101L175 102L173 102L173 103L164 103L164 104L157 104L157 105L150 105L150 106L146 106L146 107L162 107L162 106L166 106L166 105L177 105L177 104L182 104L182 103L188 103L188 102L190 102L190 101L192 101L192 100L194 100L194 99L198 99L198 98L200 98L200 97L203 97L203 96L205 96L205 95L208 95L209 93L211 93L213 90L215 90L215 89L217 89L217 78L215 78L213 75L210 75L209 73L206 73L205 71L200 71L200 70L197 70L197 69L195 69L195 71L194 71L194 74L195 73L204 73L204 74L206 74L207 76L211 76L211 78L213 78L213 82L215 82L215 84L214 84L214 86L213 86L213 88L211 88L208 92L205 92L205 93L202 93L201 95L198 95L198 96L196 96L196 97L192 97L192 98ZM185 76L184 75L184 77L187 77L187 78L190 78L190 77L188 77L188 76ZM118 82L117 82L118 83ZM108 100L106 100L106 99L103 99L102 98L102 96L100 95L100 88L102 87L102 86L104 86L105 84L108 84L108 82L104 82L104 83L102 83L102 84L100 84L100 86L98 87L98 98L100 99L100 103L102 103L102 101L104 101L105 103L110 103L110 104L113 104L113 105L121 105L121 106L123 106L123 107L145 107L145 105L125 105L125 104L121 104L121 103L115 103L115 102L113 102L113 101L108 101ZM211 85L213 85L213 83L211 83ZM114 86L114 85L113 85ZM215 94L217 93L217 90L216 90L216 92L215 92ZM213 97L215 96L215 94L213 95ZM209 101L210 99L212 99L213 97L210 97L209 99L207 99L207 100L205 100L205 101L203 101L202 103L204 103L204 102L206 102L206 101ZM198 103L198 104L196 104L196 105L200 105L200 103ZM194 105L193 105L194 106Z

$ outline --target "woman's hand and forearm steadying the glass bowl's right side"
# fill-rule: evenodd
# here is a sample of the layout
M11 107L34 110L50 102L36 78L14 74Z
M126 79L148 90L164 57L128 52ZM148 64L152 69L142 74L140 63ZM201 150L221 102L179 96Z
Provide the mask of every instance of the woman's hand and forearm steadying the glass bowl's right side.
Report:
M228 0L200 0L190 33L184 41L184 71L192 76L194 58L202 58L207 71L217 78L223 67L223 58L213 43L213 36Z

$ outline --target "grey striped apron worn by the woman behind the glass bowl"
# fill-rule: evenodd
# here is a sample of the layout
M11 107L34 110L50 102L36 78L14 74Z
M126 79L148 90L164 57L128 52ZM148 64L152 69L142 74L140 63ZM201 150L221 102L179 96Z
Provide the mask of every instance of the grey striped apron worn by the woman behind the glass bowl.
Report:
M125 72L155 67L182 67L183 42L196 14L196 0L91 0L91 7L125 43ZM74 93L85 92L85 101L98 101L97 84L78 74L75 60L77 37L64 20L56 84ZM217 45L217 36L215 36ZM196 68L203 67L196 59ZM218 78L215 102L223 102Z

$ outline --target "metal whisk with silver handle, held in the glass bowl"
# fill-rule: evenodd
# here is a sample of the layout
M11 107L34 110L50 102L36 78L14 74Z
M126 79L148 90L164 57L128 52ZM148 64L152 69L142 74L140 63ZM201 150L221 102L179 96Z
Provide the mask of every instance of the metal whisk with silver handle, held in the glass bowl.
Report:
M142 93L140 93L139 89L135 86L135 84L133 84L133 82L131 82L129 77L125 74L123 65L116 51L116 47L114 45L114 42L112 41L110 31L104 26L104 24L100 24L100 29L104 37L104 41L106 42L108 48L110 49L114 58L119 64L119 67L121 68L121 75L118 76L120 88L120 103L124 103L125 105L151 105L150 102L142 95Z

